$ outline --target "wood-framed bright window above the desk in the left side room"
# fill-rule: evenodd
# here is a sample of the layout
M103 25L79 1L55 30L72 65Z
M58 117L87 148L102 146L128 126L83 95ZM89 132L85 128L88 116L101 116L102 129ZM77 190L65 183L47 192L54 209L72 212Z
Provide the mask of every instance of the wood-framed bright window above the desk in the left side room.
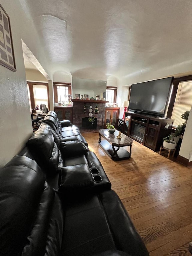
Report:
M29 104L31 108L37 105L45 104L48 109L49 106L49 88L48 83L27 82L27 90L29 96Z

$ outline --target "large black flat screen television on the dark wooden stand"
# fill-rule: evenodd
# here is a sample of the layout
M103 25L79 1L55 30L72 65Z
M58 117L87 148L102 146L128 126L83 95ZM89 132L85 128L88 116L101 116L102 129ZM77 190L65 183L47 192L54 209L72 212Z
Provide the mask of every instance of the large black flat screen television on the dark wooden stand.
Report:
M128 110L150 116L164 117L174 77L131 85Z

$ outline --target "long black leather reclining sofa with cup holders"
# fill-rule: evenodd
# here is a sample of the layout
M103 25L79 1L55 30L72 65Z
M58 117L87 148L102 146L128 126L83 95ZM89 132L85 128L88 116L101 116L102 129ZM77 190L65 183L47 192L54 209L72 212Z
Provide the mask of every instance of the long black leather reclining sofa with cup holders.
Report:
M101 162L55 112L0 170L0 255L149 255Z

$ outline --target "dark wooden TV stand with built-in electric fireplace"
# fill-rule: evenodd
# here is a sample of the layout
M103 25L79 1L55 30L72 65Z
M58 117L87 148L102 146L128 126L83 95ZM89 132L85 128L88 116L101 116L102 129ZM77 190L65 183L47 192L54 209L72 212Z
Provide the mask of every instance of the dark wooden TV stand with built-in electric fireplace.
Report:
M174 119L125 112L123 133L144 146L159 151L163 138L171 133ZM166 129L165 126L169 124Z

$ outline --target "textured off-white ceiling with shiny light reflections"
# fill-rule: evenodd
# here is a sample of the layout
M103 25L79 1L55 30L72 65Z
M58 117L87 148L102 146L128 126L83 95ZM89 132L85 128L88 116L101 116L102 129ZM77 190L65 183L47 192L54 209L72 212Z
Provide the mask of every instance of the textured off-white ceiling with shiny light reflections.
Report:
M191 0L25 2L52 73L107 80L178 65L192 69Z

